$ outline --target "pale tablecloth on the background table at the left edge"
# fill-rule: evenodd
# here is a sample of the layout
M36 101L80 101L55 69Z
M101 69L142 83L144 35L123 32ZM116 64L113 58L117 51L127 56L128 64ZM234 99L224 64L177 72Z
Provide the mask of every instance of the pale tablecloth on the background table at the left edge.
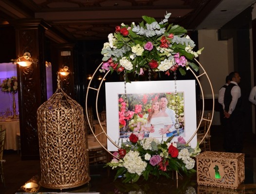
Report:
M4 149L17 150L16 134L19 133L19 121L0 122L2 129L6 128Z

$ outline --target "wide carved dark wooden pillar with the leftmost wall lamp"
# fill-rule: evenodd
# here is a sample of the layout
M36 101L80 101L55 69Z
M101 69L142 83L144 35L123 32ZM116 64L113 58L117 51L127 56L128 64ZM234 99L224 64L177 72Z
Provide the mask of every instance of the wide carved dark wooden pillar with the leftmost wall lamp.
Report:
M14 26L17 57L29 52L37 61L27 67L17 65L21 159L32 160L39 158L37 108L47 100L44 60L47 24L42 20L17 20Z

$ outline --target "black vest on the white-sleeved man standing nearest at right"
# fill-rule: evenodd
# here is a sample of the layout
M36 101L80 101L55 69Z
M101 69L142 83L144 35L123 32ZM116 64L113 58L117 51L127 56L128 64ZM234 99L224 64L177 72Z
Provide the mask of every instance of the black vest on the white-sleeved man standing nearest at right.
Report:
M225 111L228 112L229 111L229 105L232 101L232 95L231 95L231 90L232 88L236 86L236 84L234 83L230 83L225 90L225 94L224 94L224 105L225 105ZM242 105L242 100L241 97L238 98L238 102L236 104L235 110L233 110L232 114L234 112L237 112L238 110L241 109L241 105Z

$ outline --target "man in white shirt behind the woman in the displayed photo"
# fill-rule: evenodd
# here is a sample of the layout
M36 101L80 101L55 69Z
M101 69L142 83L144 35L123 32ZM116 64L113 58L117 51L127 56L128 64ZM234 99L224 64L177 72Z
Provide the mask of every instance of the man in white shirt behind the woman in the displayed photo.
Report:
M167 128L162 129L162 134L166 133L166 137L170 137L170 136L172 136L172 132L174 130L176 130L175 129L176 121L175 121L175 112L172 109L167 108L167 104L168 104L167 98L165 96L160 97L161 111L167 113L168 116L171 118L172 123L173 123L171 128L169 128L169 129L167 129Z

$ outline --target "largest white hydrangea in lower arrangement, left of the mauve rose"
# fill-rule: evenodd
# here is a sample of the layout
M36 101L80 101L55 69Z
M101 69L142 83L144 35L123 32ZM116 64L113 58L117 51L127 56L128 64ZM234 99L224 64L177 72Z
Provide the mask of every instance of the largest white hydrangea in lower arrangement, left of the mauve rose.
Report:
M147 163L142 161L139 154L137 151L129 151L125 155L123 165L129 173L142 175L143 171L145 171Z

